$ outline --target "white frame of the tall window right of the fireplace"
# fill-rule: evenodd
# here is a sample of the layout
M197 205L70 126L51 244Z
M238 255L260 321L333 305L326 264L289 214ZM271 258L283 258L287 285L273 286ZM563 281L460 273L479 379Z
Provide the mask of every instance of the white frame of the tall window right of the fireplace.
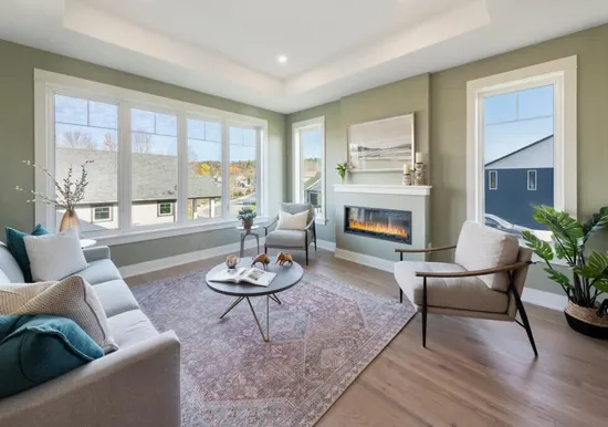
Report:
M483 102L554 85L554 207L577 217L577 56L568 56L467 83L467 218L484 221Z

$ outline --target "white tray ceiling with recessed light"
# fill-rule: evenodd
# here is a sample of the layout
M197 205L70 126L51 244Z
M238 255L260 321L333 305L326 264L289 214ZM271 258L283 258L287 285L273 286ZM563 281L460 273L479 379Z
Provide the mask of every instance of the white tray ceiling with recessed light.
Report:
M282 113L605 22L606 0L0 0L0 39Z

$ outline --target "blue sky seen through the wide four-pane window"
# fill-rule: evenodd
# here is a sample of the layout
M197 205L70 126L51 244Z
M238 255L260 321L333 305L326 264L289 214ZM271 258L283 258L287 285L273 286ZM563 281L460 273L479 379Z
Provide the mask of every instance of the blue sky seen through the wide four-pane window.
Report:
M104 149L105 134L118 139L118 107L69 96L55 96L55 134L57 145L63 144L66 132L91 135L97 149ZM149 135L150 153L177 155L177 117L143 110L132 110L132 132ZM187 119L190 160L221 162L222 129L219 122ZM255 131L230 126L230 162L255 159Z

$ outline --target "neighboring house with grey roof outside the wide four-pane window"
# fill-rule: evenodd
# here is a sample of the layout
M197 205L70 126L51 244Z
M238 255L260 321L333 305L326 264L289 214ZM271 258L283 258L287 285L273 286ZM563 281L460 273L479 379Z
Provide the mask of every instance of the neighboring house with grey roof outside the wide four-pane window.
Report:
M57 177L63 179L72 166L80 174L86 160L88 187L85 199L76 208L83 231L118 227L117 153L112 150L63 148L55 152ZM149 226L175 222L177 201L177 157L160 154L132 155L132 222ZM195 208L196 207L196 208ZM221 216L221 181L188 169L189 218ZM57 215L61 219L61 215Z

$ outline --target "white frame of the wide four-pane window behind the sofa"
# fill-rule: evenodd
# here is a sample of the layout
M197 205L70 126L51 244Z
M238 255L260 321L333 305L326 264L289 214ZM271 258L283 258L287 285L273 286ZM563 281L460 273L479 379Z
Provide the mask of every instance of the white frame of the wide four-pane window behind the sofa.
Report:
M118 230L103 230L87 232L87 238L94 238L103 244L122 244L135 241L145 241L170 236L189 235L208 230L227 229L235 227L239 222L235 218L228 217L229 192L222 188L222 201L226 201L226 210L221 218L200 218L189 220L187 218L187 191L188 188L188 140L186 117L198 119L212 119L222 123L222 162L229 170L228 124L249 126L258 129L258 218L256 222L268 220L268 121L250 117L242 114L226 112L198 104L186 103L163 96L156 96L144 92L127 90L104 83L92 82L84 79L64 74L52 73L34 69L34 162L44 166L54 176L55 147L54 147L54 95L80 97L88 101L103 102L118 105ZM132 177L130 177L130 110L141 108L155 113L171 114L177 116L178 138L178 195L174 211L176 221L154 226L132 225ZM223 183L227 181L227 183ZM228 186L228 179L223 179L222 186ZM54 195L51 179L43 171L36 170L34 177L36 191ZM224 200L226 199L226 200ZM35 204L35 220L55 228L56 210L52 206Z

